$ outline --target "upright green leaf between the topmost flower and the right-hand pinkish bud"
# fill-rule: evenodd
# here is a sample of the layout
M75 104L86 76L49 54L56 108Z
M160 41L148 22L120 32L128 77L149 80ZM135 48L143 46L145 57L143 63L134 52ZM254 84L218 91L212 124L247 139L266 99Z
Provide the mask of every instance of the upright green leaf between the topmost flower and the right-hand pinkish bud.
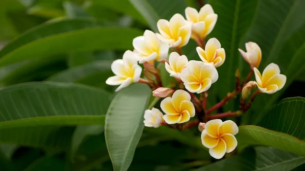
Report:
M226 51L226 61L217 68L219 79L214 85L220 98L223 98L234 90L235 71L240 64L237 49L240 39L251 25L258 0L210 0L209 4L218 14L218 20L208 38L217 38Z

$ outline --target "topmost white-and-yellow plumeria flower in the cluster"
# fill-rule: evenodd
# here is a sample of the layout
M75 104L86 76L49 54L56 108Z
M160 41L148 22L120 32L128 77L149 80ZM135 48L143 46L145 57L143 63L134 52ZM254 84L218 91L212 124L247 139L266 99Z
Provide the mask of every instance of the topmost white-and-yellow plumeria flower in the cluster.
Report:
M187 7L185 12L187 20L192 25L193 39L204 39L213 30L218 17L209 4L204 5L199 13L191 7Z

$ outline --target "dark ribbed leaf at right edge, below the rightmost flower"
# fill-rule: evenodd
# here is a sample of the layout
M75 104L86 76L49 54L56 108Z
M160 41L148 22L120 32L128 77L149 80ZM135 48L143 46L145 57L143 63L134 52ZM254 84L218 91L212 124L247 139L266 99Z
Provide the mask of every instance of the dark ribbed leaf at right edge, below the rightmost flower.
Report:
M278 102L258 126L284 132L305 141L305 98L291 97Z

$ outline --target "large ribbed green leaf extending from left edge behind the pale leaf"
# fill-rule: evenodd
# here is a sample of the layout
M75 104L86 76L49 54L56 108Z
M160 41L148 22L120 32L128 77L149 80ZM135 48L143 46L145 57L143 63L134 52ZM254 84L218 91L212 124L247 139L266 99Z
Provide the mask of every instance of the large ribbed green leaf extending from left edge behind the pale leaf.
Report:
M0 89L0 143L67 148L74 127L104 124L109 93L72 83L24 83Z

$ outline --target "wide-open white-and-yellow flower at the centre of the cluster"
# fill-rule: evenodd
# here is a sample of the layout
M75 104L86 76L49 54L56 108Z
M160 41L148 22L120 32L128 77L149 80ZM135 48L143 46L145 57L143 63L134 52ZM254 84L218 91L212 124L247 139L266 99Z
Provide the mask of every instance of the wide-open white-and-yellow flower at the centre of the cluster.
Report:
M180 78L187 90L202 93L218 80L218 72L213 65L191 60L182 70Z

